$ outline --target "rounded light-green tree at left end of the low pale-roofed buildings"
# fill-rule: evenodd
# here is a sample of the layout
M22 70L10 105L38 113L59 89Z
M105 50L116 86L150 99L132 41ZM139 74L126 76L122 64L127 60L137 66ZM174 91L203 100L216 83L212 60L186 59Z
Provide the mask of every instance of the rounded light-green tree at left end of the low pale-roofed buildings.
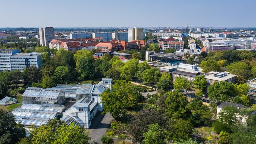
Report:
M158 68L150 68L146 69L141 74L143 82L149 83L149 84L156 84L159 81L160 77L160 71Z

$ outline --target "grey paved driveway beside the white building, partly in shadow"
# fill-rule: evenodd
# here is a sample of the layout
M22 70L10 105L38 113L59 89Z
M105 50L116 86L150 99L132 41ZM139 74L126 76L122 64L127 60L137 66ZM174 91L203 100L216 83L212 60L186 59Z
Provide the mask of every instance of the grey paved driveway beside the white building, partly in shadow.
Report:
M96 141L97 143L102 144L101 137L106 134L107 129L110 127L113 120L114 118L110 113L102 115L101 112L98 112L92 120L90 129L88 129L89 137L91 137L89 143Z

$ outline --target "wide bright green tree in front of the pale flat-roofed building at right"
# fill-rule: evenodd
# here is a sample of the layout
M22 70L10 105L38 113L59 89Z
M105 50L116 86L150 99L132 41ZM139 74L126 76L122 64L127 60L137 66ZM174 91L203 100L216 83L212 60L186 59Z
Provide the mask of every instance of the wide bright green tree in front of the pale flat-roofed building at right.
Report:
M214 82L208 87L207 93L211 101L229 101L231 97L234 97L234 84L225 81L222 81L221 83Z

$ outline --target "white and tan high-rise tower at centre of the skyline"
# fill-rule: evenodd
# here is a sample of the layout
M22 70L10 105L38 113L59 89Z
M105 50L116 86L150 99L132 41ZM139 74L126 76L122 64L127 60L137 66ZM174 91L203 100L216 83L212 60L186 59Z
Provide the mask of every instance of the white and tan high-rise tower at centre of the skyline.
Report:
M143 40L143 29L142 28L129 28L128 29L128 42L133 40Z

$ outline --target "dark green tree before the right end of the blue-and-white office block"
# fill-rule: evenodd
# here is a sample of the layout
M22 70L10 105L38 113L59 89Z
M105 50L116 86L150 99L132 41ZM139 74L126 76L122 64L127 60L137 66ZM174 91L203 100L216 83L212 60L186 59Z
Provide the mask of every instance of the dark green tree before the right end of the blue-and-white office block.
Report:
M41 79L41 74L37 67L27 67L22 72L23 87L31 87L32 83L38 83Z

